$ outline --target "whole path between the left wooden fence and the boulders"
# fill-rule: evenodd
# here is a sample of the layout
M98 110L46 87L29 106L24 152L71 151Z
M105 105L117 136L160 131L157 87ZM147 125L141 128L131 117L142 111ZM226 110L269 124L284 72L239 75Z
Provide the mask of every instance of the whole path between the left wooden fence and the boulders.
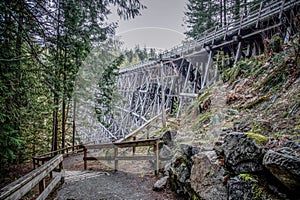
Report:
M182 199L175 197L169 187L160 192L153 191L153 184L159 179L153 172L113 172L111 168L97 161L88 164L88 169L93 170L82 171L82 155L67 157L64 160L64 168L66 182L54 197L58 200ZM137 168L144 169L140 165L133 168L136 171L139 171Z

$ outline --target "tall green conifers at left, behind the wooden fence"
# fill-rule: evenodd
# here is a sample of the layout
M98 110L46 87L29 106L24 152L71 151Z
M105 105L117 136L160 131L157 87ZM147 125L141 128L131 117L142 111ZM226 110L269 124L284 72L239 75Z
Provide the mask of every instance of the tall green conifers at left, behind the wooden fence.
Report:
M114 33L105 21L112 5L124 19L144 8L138 0L0 3L1 168L61 142L79 67Z

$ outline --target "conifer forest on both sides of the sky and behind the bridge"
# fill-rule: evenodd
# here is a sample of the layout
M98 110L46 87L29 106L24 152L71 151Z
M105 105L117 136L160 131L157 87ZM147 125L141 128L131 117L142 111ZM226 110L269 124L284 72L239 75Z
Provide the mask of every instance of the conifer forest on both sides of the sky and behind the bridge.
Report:
M250 12L254 0L188 0L187 38L225 26ZM113 70L148 59L155 49L126 49L113 41L117 27L109 23L111 6L122 19L146 9L138 0L4 0L0 3L0 152L1 168L22 163L37 153L75 144L74 89L80 66L92 50L102 61L98 86L115 80ZM100 53L102 52L102 53ZM103 53L106 52L106 53ZM108 53L107 53L108 52ZM110 57L110 59L107 59ZM113 85L113 82L109 84ZM108 108L113 87L98 94ZM108 114L98 110L99 115ZM99 117L101 120L101 117Z

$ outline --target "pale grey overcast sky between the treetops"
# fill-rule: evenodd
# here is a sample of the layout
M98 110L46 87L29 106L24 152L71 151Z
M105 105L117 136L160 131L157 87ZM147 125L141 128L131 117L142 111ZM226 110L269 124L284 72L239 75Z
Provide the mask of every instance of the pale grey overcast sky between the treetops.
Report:
M124 48L170 49L185 38L184 11L187 0L140 0L147 6L141 15L129 20L120 20L112 15L110 20L118 20L116 35L121 37Z

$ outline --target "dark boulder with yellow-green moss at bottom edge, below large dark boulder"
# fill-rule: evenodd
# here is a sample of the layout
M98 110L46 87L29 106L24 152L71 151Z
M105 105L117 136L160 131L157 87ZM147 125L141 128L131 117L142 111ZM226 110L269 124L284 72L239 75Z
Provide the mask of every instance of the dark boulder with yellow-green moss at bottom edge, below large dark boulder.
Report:
M279 199L269 194L251 174L240 174L228 180L228 200Z

